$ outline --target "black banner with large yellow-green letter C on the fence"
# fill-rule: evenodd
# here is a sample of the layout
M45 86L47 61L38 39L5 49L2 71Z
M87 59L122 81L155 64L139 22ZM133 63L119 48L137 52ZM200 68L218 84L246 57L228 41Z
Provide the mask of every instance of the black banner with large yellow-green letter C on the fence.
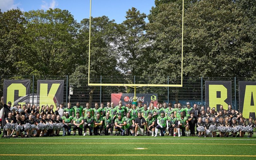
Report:
M4 102L12 102L13 105L26 104L29 97L30 80L7 80L3 81L3 97Z

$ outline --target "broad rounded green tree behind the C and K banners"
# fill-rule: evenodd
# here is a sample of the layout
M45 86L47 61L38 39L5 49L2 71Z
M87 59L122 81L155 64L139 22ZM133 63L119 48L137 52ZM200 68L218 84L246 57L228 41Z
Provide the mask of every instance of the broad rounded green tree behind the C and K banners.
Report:
M79 24L67 10L25 12L28 61L41 75L66 75L74 70Z

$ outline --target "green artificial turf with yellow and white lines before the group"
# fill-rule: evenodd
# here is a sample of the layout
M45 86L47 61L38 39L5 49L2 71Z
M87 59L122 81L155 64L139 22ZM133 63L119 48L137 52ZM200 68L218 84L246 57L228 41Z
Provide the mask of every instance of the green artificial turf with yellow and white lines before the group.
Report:
M15 144L19 143L19 144ZM30 144L33 143L33 144ZM46 143L46 144L43 144ZM67 144L68 143L68 144ZM200 143L200 144L199 144ZM228 145L231 144L231 145ZM1 138L0 159L256 159L256 137L65 136ZM147 148L137 150L135 148ZM6 156L3 156L6 155ZM9 154L15 154L10 156ZM20 155L24 156L20 156ZM31 154L33 156L28 156ZM39 156L34 156L38 154ZM59 154L59 155L58 155ZM93 156L88 156L88 155ZM58 156L42 156L58 155ZM98 155L98 156L96 156ZM108 156L113 155L113 156ZM119 155L119 156L116 156ZM133 155L133 156L127 156ZM139 156L144 155L144 156ZM149 156L147 156L149 155ZM170 156L164 156L170 155ZM176 155L176 156L173 156ZM187 156L177 156L187 155ZM189 156L197 155L197 156ZM202 157L200 155L215 155ZM242 157L218 157L240 155Z

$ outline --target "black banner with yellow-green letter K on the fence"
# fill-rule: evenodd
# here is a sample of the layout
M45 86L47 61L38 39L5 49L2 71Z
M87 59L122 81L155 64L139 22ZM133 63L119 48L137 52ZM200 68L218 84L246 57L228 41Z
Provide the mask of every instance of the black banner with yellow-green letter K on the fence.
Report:
M38 80L37 104L39 106L59 106L63 102L64 80Z

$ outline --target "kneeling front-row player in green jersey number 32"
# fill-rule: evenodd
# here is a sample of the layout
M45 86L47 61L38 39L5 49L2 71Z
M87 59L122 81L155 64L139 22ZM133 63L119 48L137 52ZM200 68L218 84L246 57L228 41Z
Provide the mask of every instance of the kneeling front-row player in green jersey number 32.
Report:
M155 128L155 137L157 136L158 129L160 129L160 135L165 135L165 130L169 129L169 122L165 116L165 112L161 111L160 116L157 117L157 126Z

